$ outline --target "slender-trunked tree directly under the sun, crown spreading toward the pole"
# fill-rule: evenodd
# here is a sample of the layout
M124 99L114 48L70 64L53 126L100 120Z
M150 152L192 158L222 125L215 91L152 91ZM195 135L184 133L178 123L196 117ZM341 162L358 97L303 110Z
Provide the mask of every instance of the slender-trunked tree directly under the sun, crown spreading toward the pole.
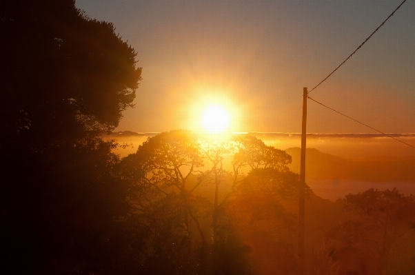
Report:
M214 184L214 202L212 212L212 241L216 243L219 230L219 216L223 212L229 198L234 196L236 188L243 179L241 170L247 171L258 168L270 168L275 171L288 171L287 164L291 156L285 151L265 145L254 136L232 136L232 138L218 136L199 136L201 154L210 170L205 173L205 181ZM223 161L232 156L233 172L225 170ZM230 190L223 191L224 197L219 200L219 186L229 185ZM226 188L223 188L226 190Z

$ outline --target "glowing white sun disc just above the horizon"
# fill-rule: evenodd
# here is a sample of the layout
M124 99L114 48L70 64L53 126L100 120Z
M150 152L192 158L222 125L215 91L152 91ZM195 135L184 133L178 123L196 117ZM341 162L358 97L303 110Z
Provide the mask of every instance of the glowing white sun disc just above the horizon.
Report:
M203 111L201 123L208 132L224 132L229 127L230 114L221 105L209 105Z

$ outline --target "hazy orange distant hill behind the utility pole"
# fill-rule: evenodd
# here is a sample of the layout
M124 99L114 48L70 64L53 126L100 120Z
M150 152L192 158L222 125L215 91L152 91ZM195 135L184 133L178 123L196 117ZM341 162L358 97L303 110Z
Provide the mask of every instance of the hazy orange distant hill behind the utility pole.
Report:
M301 149L294 147L285 151L292 156L290 169L299 173ZM415 183L415 156L345 159L307 148L305 163L307 179Z

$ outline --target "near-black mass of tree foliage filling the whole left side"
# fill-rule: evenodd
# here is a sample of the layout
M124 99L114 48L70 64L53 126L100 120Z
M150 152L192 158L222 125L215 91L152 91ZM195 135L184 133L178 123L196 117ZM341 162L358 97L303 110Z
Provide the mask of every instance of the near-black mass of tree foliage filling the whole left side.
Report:
M0 269L110 274L130 190L99 134L132 107L136 52L73 0L2 0L0 35Z

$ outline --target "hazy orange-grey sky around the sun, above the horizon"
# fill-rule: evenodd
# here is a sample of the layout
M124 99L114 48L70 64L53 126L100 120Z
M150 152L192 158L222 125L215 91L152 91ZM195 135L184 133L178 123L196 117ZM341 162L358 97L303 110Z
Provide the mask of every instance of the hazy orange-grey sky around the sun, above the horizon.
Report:
M234 132L301 132L311 90L401 0L77 0L138 52L136 108L117 130L189 128L218 101ZM384 132L415 132L415 1L310 96ZM309 101L307 132L374 132Z

